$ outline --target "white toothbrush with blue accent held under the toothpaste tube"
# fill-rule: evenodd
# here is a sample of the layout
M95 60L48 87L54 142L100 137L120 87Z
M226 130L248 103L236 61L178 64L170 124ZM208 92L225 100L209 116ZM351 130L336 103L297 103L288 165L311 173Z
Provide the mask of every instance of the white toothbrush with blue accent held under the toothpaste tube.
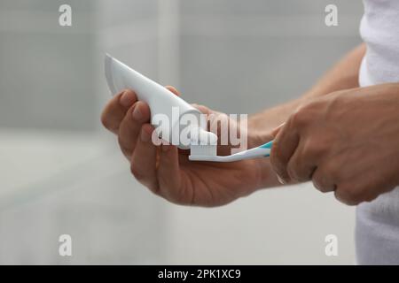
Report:
M191 146L191 155L189 159L192 161L212 161L212 162L233 162L257 157L270 157L271 146L273 141L262 144L254 149L247 149L231 156L217 156L215 150L208 150L208 146ZM201 151L204 151L203 153ZM209 154L210 153L210 154Z

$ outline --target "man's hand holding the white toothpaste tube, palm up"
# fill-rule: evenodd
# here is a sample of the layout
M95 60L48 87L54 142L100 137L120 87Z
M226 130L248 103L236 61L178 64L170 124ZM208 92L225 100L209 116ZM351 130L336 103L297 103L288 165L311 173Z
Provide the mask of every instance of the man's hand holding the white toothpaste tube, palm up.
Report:
M175 88L168 89L178 95ZM224 115L204 106L197 108L206 114ZM146 103L137 101L131 90L114 96L106 105L101 120L118 136L121 151L128 158L136 179L172 203L222 205L268 187L269 183L277 183L267 158L231 164L192 162L188 160L187 151L172 145L155 146L151 139L154 129L150 125L150 109ZM254 144L251 137L249 134L248 145L259 145Z

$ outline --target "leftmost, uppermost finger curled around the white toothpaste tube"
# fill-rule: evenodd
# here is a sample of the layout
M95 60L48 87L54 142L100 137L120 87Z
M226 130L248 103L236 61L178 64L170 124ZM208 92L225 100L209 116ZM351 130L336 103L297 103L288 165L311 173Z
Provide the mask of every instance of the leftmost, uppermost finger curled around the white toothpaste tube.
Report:
M133 90L123 90L106 104L101 114L101 123L113 134L117 134L121 120L125 117L129 107L136 102L137 96Z

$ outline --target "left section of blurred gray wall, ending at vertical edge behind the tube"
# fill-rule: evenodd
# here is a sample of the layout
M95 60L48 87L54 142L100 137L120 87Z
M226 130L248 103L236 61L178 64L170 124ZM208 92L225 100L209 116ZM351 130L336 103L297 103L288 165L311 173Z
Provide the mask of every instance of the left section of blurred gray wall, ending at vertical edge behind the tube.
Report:
M58 24L65 3L72 27ZM0 4L0 264L165 262L166 203L130 177L99 123L105 52L158 76L157 6ZM72 257L59 256L63 233Z

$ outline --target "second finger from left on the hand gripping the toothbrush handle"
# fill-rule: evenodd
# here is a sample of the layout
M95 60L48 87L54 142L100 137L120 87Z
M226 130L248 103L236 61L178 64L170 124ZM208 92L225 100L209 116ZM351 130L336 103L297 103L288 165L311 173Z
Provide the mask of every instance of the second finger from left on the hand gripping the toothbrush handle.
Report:
M303 142L299 143L286 166L286 171L290 179L299 182L310 180L317 166L312 159L308 158L302 143Z

